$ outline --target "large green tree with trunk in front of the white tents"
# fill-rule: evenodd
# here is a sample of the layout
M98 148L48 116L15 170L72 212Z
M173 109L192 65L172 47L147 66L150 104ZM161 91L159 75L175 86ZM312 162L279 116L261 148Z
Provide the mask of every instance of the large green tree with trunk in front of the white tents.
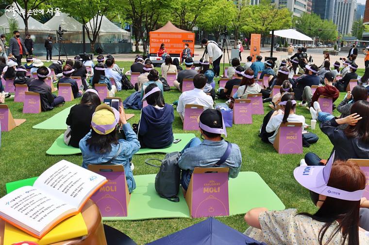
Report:
M120 6L119 0L77 0L74 4L65 0L57 2L65 13L78 17L82 21L88 40L90 40L91 52L94 51L94 45L99 37L102 16L108 12L118 11L118 6Z

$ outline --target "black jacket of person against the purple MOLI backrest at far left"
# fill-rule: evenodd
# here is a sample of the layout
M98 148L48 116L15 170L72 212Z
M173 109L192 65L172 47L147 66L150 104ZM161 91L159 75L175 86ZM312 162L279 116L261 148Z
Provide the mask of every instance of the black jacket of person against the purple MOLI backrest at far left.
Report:
M52 96L51 87L48 86L44 81L39 79L31 80L28 84L28 91L37 92L40 94L42 111L48 111L54 108L54 96Z

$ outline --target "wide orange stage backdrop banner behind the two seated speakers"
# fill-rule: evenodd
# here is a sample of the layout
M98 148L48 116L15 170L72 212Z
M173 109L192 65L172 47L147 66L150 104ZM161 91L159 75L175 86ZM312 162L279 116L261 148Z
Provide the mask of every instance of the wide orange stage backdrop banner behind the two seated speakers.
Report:
M188 44L193 54L195 51L195 33L150 32L150 53L156 54L161 44L165 44L169 54L178 55L185 49L185 44Z

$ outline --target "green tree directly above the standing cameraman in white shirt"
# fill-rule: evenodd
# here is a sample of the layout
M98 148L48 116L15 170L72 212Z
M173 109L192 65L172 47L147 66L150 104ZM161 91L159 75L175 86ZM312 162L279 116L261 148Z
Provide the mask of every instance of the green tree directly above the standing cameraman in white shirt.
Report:
M229 0L216 0L203 15L199 17L198 25L205 30L213 32L216 41L219 41L220 34L228 27L235 17L236 5Z

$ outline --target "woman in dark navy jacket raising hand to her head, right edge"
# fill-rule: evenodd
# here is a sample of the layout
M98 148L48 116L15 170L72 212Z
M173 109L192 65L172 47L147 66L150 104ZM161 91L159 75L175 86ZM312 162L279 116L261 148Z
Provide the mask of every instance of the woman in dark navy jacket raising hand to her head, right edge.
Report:
M320 129L333 144L335 160L369 159L369 102L356 101L350 113L344 118L321 122ZM342 124L348 126L341 130L338 126ZM315 153L307 153L301 163L316 166L324 165L326 160L322 160Z

